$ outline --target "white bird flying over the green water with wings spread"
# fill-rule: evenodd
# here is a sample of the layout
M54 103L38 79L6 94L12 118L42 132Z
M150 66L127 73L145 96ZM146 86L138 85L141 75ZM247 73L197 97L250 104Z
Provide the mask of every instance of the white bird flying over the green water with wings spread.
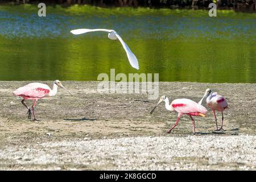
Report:
M108 32L108 38L111 40L119 40L123 46L123 48L125 49L125 52L127 54L128 60L131 64L131 66L135 69L139 69L139 63L137 60L137 57L134 55L133 52L131 52L130 48L127 46L127 44L125 42L123 42L123 39L121 38L121 36L119 36L117 34L117 32L115 32L114 30L108 30L108 29L86 29L86 28L81 28L81 29L76 29L76 30L71 30L72 34L75 35L79 35L79 34L84 34L87 32L94 32L94 31L104 31L104 32Z

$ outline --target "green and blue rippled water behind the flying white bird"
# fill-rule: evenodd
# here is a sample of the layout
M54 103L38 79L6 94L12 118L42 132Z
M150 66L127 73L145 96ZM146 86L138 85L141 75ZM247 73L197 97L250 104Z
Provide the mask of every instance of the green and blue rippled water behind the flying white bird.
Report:
M97 80L100 73L159 73L160 81L256 82L256 14L130 7L0 5L0 80ZM132 68L118 32L139 60Z

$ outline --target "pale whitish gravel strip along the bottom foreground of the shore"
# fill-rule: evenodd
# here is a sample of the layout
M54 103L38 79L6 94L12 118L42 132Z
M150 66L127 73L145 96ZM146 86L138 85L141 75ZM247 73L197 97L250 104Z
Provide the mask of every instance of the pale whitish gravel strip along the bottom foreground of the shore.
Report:
M1 169L255 170L256 136L88 138L0 150Z

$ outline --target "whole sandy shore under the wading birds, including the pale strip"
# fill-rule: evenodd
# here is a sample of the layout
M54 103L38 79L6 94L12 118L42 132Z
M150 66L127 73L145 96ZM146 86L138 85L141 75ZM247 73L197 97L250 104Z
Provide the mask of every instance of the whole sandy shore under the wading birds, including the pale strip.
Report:
M160 82L159 96L170 100L198 102L206 88L228 100L224 133L212 133L209 110L208 117L195 118L192 135L188 117L166 134L176 113L162 104L150 114L158 101L147 100L147 94L99 94L98 82L64 81L74 96L59 89L38 101L41 121L33 122L12 94L29 82L0 81L0 169L255 169L256 84Z

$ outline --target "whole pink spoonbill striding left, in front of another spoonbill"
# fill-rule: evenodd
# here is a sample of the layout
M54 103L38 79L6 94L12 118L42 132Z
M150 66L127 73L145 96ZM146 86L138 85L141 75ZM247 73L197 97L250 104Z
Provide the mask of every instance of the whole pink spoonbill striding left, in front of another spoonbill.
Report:
M176 111L178 113L176 123L174 124L174 126L171 127L171 129L169 131L167 131L167 133L170 133L171 130L174 129L175 126L177 126L181 115L187 114L192 120L193 133L195 134L196 133L195 120L192 118L192 115L205 117L205 114L207 114L207 109L205 109L204 106L201 106L200 104L197 104L196 102L194 102L192 100L189 100L187 98L179 98L179 99L172 101L171 104L169 104L169 99L166 96L160 97L158 104L154 107L154 109L151 110L150 114L152 114L154 112L156 107L162 101L166 102L167 110Z

